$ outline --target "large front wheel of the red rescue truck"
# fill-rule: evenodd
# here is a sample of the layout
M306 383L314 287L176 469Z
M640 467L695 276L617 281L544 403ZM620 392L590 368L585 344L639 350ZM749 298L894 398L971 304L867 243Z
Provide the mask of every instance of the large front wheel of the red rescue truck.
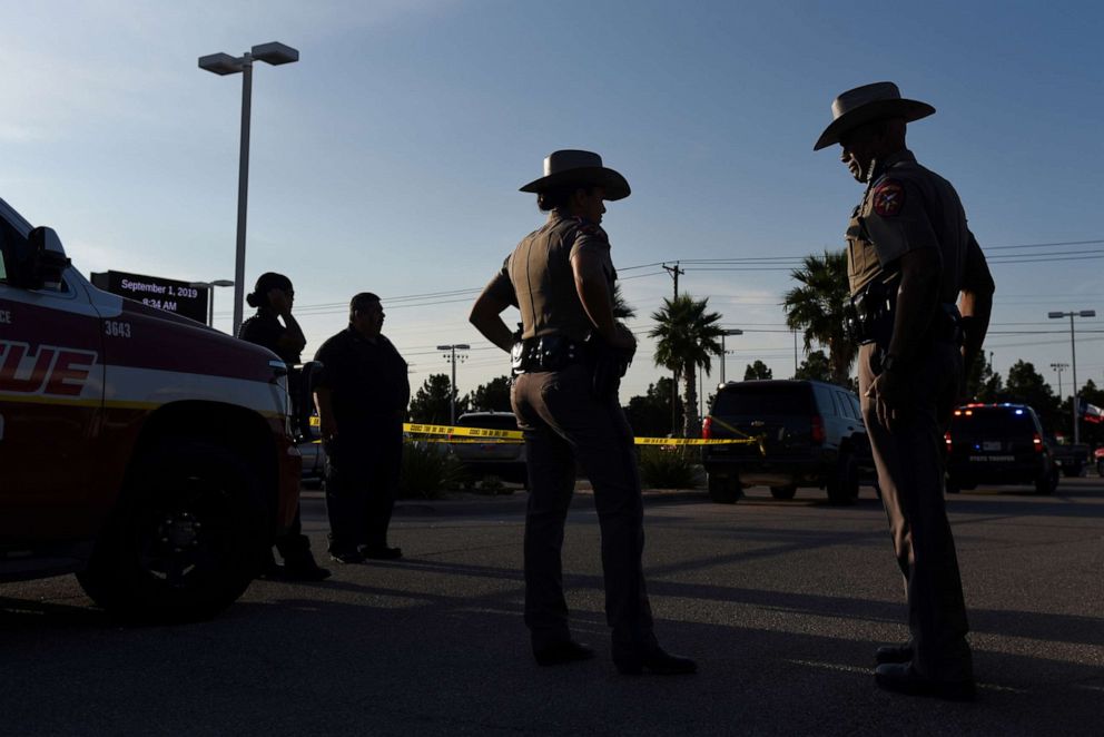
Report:
M162 442L128 478L81 587L126 620L215 616L246 590L270 544L262 489L226 448Z

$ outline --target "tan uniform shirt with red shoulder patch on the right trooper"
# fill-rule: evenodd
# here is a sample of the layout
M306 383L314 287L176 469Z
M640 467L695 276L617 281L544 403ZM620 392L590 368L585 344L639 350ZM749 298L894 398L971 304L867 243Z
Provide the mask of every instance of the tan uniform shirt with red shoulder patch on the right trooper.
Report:
M897 272L896 262L917 248L936 248L942 258L939 301L958 299L966 253L974 235L949 181L903 150L855 208L847 228L847 276L851 296L873 279Z

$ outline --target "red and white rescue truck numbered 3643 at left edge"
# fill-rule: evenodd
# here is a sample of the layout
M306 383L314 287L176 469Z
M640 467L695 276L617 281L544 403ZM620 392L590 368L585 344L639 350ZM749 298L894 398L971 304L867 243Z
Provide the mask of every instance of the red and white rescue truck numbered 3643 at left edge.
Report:
M141 620L227 607L294 514L286 372L97 289L0 199L0 581L76 572Z

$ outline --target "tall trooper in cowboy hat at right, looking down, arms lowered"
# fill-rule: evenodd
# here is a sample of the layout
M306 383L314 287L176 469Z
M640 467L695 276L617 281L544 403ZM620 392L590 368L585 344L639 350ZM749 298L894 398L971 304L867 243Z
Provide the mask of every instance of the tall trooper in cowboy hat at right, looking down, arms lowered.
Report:
M909 611L910 638L878 649L876 681L972 699L942 446L964 360L968 366L985 337L993 278L955 188L905 146L906 124L935 108L876 82L837 97L831 112L814 150L839 144L844 165L866 184L846 233L859 393Z

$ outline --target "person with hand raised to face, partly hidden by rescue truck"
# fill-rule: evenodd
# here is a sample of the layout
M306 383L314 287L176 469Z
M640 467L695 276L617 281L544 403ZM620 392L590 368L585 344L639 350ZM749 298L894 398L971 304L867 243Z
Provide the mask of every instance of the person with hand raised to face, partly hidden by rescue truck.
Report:
M307 344L303 330L292 316L294 301L295 289L292 288L289 278L275 272L262 274L253 293L246 296L246 302L250 307L257 308L257 314L241 323L238 331L239 338L268 348L287 364L293 397L297 395L294 383L298 381L298 375L292 367L299 363L299 353ZM277 534L276 549L284 559L284 564L278 566L269 551L262 571L264 578L321 581L329 577L329 571L321 568L310 554L310 540L303 534L298 505L290 527Z

